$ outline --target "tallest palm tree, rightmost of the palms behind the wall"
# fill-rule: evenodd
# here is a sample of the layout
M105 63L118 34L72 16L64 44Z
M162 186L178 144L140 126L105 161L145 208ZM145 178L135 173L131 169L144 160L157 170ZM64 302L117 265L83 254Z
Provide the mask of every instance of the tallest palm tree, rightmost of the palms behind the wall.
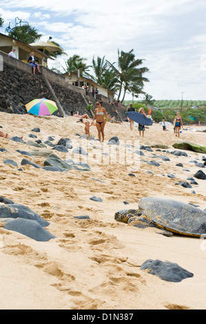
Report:
M118 67L117 69L114 66L114 63L110 63L112 70L116 73L116 76L119 77L119 96L121 96L122 90L124 90L123 99L127 90L130 91L130 88L133 87L136 90L141 90L143 88L143 82L148 82L149 80L143 77L143 73L148 72L148 68L139 68L139 65L143 63L143 59L135 59L133 50L130 52L119 52L118 50ZM142 91L142 90L141 90ZM138 92L142 93L142 92ZM121 102L123 102L123 99Z

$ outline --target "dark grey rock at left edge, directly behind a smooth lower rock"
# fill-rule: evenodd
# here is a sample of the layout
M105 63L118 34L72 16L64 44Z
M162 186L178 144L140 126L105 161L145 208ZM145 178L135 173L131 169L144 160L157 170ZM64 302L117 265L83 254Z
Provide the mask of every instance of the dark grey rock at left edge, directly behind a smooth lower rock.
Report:
M9 203L6 205L0 205L0 218L1 219L30 219L37 221L41 226L45 227L50 225L48 221L42 219L37 212L33 212L25 205L18 203Z

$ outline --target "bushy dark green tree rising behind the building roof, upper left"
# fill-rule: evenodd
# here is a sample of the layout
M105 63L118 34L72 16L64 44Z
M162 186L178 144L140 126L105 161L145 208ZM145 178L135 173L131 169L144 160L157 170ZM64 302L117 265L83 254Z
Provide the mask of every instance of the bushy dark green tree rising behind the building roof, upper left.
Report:
M29 44L39 41L42 35L38 34L37 30L30 25L23 25L12 28L9 36Z

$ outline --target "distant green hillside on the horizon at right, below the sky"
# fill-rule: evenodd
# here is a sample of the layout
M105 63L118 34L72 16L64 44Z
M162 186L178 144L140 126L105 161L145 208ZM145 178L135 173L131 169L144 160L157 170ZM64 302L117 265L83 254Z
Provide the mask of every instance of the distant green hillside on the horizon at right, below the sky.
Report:
M124 101L124 105L129 105L132 101ZM134 103L143 103L143 101L134 101ZM160 110L180 110L181 100L154 100L154 107ZM206 100L183 100L183 110L198 106L198 108L206 108Z

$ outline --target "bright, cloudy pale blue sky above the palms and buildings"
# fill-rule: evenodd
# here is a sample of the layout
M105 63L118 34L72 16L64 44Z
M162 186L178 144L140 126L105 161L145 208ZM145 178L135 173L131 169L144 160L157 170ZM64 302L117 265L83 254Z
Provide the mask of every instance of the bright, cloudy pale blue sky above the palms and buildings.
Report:
M58 58L64 67L74 54L88 65L99 56L117 67L118 50L133 50L149 69L143 90L153 99L206 100L205 12L205 0L1 0L0 32L16 17L28 21L68 54Z

